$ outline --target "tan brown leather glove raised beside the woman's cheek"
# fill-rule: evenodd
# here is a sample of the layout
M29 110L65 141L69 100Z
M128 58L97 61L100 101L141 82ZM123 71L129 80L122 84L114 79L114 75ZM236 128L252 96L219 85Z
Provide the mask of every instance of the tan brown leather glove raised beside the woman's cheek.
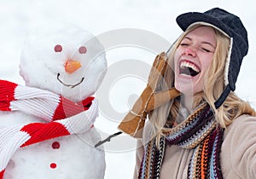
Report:
M147 114L179 95L179 92L174 88L160 92L155 91L166 70L166 59L165 52L155 57L148 76L147 87L143 90L142 95L135 102L131 111L127 113L119 124L119 130L134 137L142 137Z

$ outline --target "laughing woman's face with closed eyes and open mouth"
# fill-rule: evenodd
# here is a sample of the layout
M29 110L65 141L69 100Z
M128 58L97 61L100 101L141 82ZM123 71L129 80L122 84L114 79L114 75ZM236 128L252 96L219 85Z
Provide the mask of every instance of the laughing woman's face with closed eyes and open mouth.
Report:
M185 95L203 90L203 79L215 49L215 32L210 26L199 26L183 38L174 55L177 90Z

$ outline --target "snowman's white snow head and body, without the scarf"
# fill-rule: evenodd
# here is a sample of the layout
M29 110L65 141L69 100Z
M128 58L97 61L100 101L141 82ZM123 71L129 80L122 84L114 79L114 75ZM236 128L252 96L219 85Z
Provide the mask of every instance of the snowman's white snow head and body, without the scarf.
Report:
M26 86L73 102L94 95L106 70L102 44L90 32L73 25L56 24L33 32L20 60L20 75ZM47 123L20 111L0 112L0 118L0 131L9 126ZM94 147L100 140L92 126L84 133L20 147L9 160L3 179L104 178L105 154L102 148Z

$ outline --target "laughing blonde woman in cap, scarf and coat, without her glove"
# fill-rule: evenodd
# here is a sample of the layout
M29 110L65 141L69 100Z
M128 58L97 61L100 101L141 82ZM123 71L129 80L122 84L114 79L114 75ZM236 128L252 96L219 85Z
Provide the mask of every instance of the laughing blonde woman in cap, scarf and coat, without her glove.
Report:
M154 109L134 178L256 178L256 113L233 91L247 31L223 9L177 17L183 34L156 90L181 95Z

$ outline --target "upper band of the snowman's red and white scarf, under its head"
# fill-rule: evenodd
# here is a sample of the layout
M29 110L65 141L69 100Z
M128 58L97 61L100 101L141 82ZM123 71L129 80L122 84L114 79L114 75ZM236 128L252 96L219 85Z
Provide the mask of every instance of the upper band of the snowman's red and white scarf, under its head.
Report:
M94 97L89 96L73 102L47 90L0 80L0 111L21 111L49 122L85 111L93 100Z

